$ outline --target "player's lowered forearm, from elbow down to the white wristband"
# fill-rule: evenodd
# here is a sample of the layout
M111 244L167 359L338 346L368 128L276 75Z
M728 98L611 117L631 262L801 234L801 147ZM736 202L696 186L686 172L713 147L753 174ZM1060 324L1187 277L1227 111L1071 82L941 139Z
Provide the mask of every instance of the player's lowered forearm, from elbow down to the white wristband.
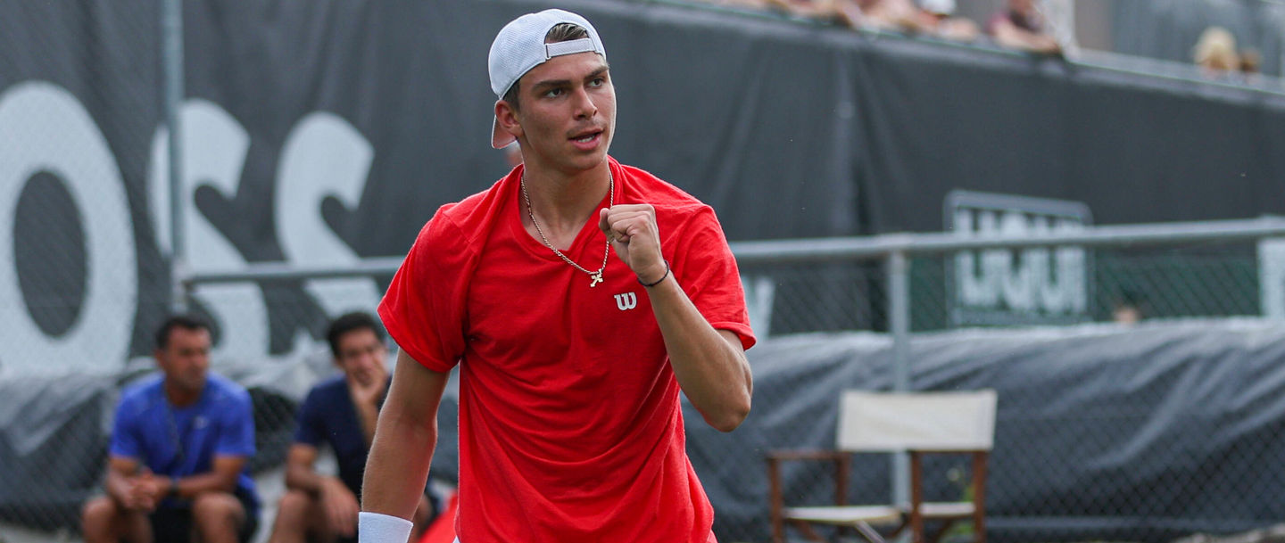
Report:
M437 417L407 416L389 402L379 416L366 472L361 483L361 510L414 519L428 480L437 445Z

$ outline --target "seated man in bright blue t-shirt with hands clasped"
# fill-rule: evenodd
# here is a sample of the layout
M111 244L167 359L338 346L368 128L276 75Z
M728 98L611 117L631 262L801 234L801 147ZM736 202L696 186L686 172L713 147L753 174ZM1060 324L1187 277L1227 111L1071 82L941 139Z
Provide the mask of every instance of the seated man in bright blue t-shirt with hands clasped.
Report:
M204 321L171 317L155 341L161 375L121 393L107 496L85 504L85 540L248 542L258 525L249 394L208 372Z

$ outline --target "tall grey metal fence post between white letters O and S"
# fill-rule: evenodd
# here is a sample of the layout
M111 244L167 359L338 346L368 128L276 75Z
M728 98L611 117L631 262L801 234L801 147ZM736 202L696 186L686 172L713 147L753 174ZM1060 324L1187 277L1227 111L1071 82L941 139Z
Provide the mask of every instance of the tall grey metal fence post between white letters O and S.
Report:
M170 158L170 308L184 312L188 308L186 248L182 244L182 126L179 116L182 108L182 0L162 0L161 5L161 56L164 71L164 119L168 128Z

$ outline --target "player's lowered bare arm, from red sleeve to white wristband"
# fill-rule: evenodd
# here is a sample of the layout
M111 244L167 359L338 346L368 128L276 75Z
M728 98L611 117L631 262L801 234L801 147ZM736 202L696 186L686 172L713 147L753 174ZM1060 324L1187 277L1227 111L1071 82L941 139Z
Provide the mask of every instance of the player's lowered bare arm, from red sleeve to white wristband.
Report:
M437 445L437 406L448 377L424 367L405 350L397 353L393 384L379 411L366 461L362 511L414 517Z

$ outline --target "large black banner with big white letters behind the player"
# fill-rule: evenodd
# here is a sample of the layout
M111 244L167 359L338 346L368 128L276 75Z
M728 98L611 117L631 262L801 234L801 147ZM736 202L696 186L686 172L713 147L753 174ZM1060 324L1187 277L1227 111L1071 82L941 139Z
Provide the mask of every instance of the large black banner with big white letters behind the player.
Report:
M565 5L607 41L613 154L714 205L732 240L935 231L956 189L1079 202L1097 223L1285 213L1279 94L694 6ZM486 53L538 6L184 3L189 271L402 254L439 204L506 171L487 145ZM0 306L23 322L6 344L44 347L0 367L149 349L171 298L157 9L3 9L0 234L15 258ZM225 357L281 357L380 289L195 300Z

